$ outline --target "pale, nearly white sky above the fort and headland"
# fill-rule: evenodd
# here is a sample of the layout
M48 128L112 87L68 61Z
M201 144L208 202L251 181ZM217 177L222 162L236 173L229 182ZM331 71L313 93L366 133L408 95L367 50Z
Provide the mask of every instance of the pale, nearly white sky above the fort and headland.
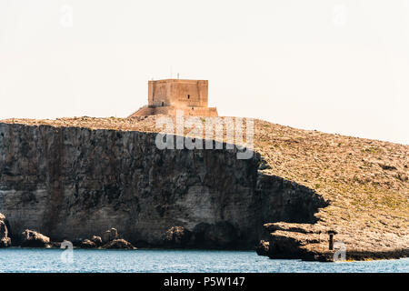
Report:
M219 115L409 145L409 0L0 0L0 119L125 117L177 73Z

